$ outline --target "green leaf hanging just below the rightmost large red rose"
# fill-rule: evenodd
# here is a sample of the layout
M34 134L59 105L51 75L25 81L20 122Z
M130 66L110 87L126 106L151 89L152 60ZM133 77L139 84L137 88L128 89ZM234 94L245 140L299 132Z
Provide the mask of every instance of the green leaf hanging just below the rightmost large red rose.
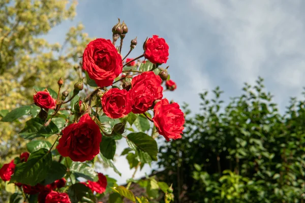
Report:
M139 154L147 153L152 160L157 160L157 142L144 132L132 132L127 136L128 145ZM141 161L142 162L142 161Z

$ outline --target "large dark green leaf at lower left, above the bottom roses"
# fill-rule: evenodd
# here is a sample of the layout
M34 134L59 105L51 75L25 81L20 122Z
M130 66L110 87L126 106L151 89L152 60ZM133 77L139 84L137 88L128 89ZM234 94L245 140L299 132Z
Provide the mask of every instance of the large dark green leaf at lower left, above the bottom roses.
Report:
M16 165L11 182L34 186L46 178L51 165L51 153L48 153L47 149L39 149L31 153L26 162Z

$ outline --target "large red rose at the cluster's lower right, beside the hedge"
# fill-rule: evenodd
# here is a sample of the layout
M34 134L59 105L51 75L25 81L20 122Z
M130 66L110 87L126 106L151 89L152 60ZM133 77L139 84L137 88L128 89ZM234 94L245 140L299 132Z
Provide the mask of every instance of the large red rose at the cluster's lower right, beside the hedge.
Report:
M177 103L169 104L164 98L155 105L154 114L153 121L166 141L181 138L185 118Z

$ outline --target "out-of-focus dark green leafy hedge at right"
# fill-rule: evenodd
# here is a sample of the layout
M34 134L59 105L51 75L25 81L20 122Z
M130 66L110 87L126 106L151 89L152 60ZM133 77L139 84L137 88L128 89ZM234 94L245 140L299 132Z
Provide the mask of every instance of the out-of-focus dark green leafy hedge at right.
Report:
M281 114L262 82L226 106L217 87L214 98L200 94L199 113L185 107L185 133L159 161L180 202L303 201L305 102L291 98Z

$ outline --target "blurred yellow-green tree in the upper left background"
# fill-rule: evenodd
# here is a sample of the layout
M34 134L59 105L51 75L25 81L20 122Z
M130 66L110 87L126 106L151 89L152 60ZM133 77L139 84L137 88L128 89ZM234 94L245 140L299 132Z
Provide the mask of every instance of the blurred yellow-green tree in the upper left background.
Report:
M60 77L68 76L63 88L79 79L73 67L90 41L83 26L71 27L63 45L44 39L54 26L74 18L76 5L67 0L0 0L0 117L17 104L33 103L35 85L57 90ZM0 164L24 149L17 136L21 125L1 122Z

